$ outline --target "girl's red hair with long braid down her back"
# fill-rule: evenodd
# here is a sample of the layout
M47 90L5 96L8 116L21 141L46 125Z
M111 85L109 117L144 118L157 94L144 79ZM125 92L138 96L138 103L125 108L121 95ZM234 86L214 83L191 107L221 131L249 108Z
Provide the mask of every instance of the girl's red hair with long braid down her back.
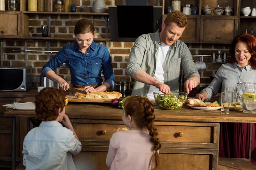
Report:
M153 122L155 119L153 103L147 97L131 96L125 101L124 110L126 116L130 115L134 118L137 127L147 127L151 136L150 141L154 144L154 161L155 167L157 167L159 165L159 154L157 150L161 148L161 144L157 138L157 128Z

